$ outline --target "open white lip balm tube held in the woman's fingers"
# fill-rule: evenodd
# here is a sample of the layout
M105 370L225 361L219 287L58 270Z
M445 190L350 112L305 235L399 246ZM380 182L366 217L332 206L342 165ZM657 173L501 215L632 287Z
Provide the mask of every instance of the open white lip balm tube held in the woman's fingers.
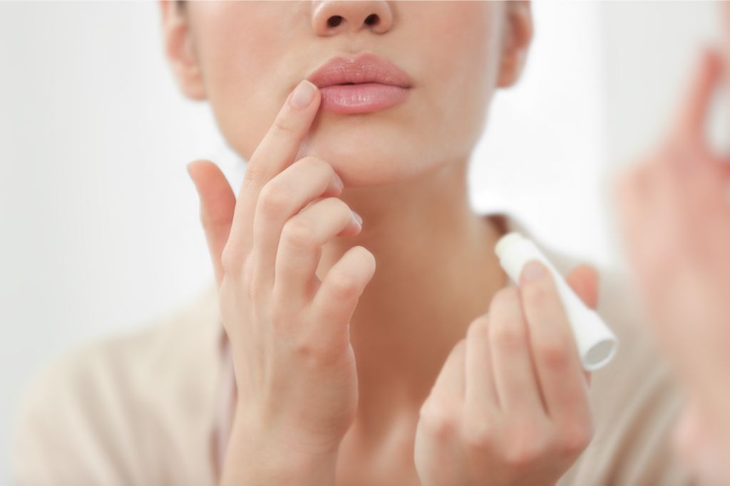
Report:
M592 372L604 367L616 353L618 339L611 329L604 323L601 316L595 310L587 307L580 300L580 297L570 288L562 275L548 262L542 251L516 232L504 235L497 242L494 251L499 257L499 264L502 265L512 281L520 282L522 267L532 259L537 259L550 270L555 279L563 307L568 316L570 328L575 337L580 361L583 369Z

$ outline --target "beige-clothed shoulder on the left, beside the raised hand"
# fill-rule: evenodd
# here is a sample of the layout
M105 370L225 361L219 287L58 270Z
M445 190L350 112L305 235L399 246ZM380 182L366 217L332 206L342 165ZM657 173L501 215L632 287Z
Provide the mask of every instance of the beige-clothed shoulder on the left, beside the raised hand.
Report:
M161 482L173 458L157 446L198 439L217 384L215 286L143 324L54 358L31 380L15 422L19 485Z

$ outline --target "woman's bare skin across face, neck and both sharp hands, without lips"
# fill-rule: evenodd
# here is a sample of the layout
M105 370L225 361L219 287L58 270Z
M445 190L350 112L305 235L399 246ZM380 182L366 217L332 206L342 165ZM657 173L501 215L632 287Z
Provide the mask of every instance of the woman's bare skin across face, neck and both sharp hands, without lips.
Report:
M554 484L591 438L585 375L550 278L500 290L504 230L466 185L493 90L526 57L529 5L161 7L183 93L210 101L248 161L237 196L212 162L188 165L239 396L221 484ZM410 100L364 117L318 111L318 90L288 102L347 51L400 63ZM569 281L596 305L593 270ZM520 395L529 406L500 412ZM534 427L512 434L523 419ZM432 470L445 456L462 466Z

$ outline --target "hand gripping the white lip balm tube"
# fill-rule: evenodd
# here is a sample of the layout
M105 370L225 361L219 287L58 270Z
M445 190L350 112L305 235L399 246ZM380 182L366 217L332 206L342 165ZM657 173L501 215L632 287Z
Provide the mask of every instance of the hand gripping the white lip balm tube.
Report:
M423 486L554 485L588 446L588 375L552 276L530 262L469 326L420 409L415 466ZM596 307L598 275L568 277Z

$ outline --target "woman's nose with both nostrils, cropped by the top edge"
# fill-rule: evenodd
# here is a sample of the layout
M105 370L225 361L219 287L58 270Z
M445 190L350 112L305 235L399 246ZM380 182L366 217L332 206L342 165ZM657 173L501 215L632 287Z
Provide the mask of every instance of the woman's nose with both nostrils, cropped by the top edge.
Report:
M393 12L385 0L322 0L316 3L312 28L320 36L355 34L363 28L384 34L393 23Z

